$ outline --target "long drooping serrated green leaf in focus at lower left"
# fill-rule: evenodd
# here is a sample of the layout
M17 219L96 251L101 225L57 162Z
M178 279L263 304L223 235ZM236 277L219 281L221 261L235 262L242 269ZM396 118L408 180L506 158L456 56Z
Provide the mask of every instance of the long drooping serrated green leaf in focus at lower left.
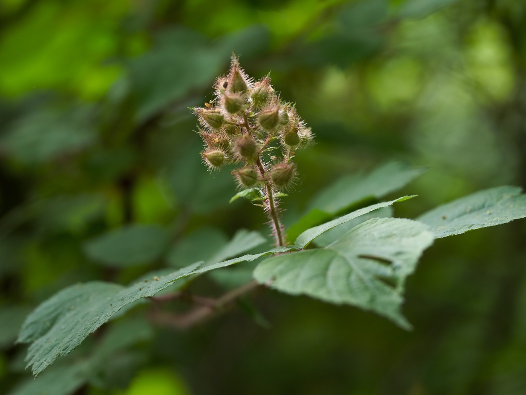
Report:
M28 366L32 366L36 376L55 359L72 351L127 304L155 295L198 266L192 264L129 287L94 281L56 293L28 315L18 335L17 342L32 343L26 358Z

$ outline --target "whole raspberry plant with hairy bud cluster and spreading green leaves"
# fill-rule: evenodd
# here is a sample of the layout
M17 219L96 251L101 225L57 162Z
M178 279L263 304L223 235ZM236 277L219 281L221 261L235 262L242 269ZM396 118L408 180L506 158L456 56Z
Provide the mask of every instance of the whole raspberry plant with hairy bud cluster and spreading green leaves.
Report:
M239 256L265 243L257 232L240 231L206 262L170 273L148 273L127 286L93 281L65 288L29 314L19 332L18 342L29 343L26 361L35 376L75 349L119 310L144 298L154 302L151 322L178 329L190 328L224 311L256 287L350 304L409 329L401 313L405 281L434 239L526 217L526 195L514 186L473 193L432 209L417 220L392 218L389 210L394 203L413 196L360 206L398 190L422 173L421 169L393 162L370 174L343 178L321 191L312 200L311 210L289 228L290 244L286 245L278 199L294 185L294 155L311 142L312 133L294 105L280 100L269 76L252 81L236 56L232 56L228 75L217 78L215 91L214 101L193 108L199 118L198 133L205 143L201 157L211 171L227 164L238 166L232 171L241 189L237 196L249 197L265 208L276 247ZM338 216L341 212L347 214ZM87 251L98 251L95 255L105 258L100 254L101 246L123 241L131 245L140 240L148 240L152 248L155 243L151 240L157 238L159 230L148 229L103 236L99 243L88 244ZM113 252L110 255L106 258L116 259ZM191 297L185 291L200 275L260 258L265 259L257 263L254 281L217 299ZM128 260L134 261L134 257L128 256ZM170 293L157 295L168 287ZM196 307L183 315L159 310L159 304L181 299L196 301ZM205 305L197 303L203 300ZM88 381L96 376L99 357L95 353L83 358L63 374L80 374L80 379Z

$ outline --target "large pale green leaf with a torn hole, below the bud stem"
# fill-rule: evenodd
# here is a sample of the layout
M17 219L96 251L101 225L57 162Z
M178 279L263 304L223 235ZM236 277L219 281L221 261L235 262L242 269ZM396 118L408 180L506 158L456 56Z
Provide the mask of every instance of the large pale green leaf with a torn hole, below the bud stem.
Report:
M420 222L371 219L325 248L266 259L254 277L282 292L375 311L407 329L400 313L404 282L432 242Z

